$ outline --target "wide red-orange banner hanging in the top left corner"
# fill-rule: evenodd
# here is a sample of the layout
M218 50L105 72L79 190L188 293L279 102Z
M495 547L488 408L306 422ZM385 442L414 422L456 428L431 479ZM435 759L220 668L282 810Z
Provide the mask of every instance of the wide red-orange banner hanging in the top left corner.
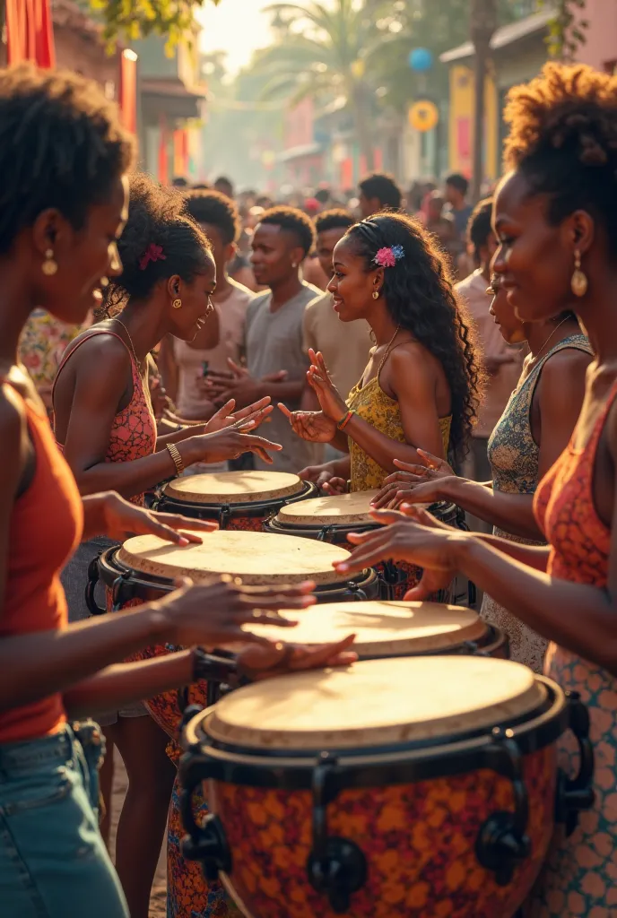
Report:
M6 0L6 56L9 64L55 67L50 0Z

